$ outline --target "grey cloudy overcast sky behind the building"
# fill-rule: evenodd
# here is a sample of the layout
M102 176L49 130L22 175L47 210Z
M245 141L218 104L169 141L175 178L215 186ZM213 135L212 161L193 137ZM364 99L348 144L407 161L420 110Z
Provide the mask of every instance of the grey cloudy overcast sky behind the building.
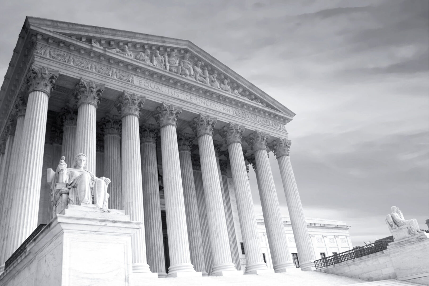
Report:
M390 235L392 205L427 229L427 0L3 1L2 76L26 15L192 41L296 113L306 217L347 222L353 245Z

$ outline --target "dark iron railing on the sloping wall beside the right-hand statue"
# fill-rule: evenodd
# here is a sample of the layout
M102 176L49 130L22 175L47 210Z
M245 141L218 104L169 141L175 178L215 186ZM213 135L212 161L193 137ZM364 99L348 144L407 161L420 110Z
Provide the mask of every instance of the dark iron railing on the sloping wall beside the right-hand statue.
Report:
M372 253L376 253L379 251L387 250L387 245L391 241L377 241L372 244L367 244L365 246L356 247L332 256L328 256L322 259L314 260L314 266L317 268L328 267L331 265L335 265L341 262L346 262L355 258L359 258L362 256L366 256Z

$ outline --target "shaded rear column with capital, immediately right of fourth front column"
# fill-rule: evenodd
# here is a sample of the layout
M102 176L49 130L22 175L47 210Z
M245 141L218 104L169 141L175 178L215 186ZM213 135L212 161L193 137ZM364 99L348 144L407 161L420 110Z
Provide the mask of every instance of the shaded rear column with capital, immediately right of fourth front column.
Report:
M200 271L203 276L207 276L207 271L205 271L201 227L199 224L199 212L192 171L192 160L190 157L193 139L194 137L191 137L188 134L178 134L179 160L182 174L183 197L186 209L190 261L194 265L196 271Z

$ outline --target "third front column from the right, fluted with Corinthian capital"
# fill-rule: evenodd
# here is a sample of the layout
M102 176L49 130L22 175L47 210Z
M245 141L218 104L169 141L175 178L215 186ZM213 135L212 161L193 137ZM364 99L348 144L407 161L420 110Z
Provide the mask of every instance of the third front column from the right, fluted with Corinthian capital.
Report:
M220 133L228 145L231 172L236 189L237 209L246 255L245 274L257 274L261 271L267 272L269 269L262 256L250 184L241 145L244 130L244 126L228 123Z

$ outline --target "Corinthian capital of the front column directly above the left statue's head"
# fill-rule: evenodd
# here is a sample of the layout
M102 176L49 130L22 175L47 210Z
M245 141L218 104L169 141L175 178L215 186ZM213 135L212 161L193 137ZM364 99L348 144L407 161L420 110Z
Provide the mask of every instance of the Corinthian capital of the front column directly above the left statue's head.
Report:
M94 81L87 81L83 78L76 84L73 95L79 107L82 103L89 103L97 108L104 91L104 84L96 84Z

